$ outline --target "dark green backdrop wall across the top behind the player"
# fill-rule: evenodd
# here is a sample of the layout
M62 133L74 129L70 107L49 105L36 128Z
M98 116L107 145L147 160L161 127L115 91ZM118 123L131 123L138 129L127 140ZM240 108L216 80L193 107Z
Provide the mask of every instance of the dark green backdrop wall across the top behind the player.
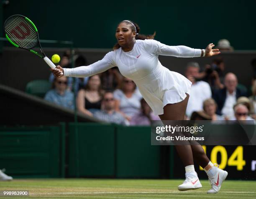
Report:
M13 14L30 18L41 39L74 40L75 47L112 48L121 20L133 20L141 33L156 30L168 45L205 48L226 38L235 49L255 49L256 1L61 1L10 0L4 20Z

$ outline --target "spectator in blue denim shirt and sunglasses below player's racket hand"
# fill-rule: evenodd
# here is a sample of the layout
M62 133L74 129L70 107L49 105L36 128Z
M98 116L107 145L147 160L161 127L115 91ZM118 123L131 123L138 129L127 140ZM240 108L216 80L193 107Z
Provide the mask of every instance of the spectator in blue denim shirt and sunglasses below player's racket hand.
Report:
M54 78L53 87L44 99L74 110L74 93L67 90L67 77Z

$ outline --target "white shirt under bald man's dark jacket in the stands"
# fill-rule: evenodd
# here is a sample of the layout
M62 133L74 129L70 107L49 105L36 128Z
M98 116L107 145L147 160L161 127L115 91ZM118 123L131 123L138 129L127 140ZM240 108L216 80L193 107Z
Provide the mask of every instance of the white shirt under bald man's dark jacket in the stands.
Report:
M223 108L221 109L221 114L227 116L228 118L232 118L234 116L233 106L236 104L236 91L233 93L229 93L227 91L226 100Z

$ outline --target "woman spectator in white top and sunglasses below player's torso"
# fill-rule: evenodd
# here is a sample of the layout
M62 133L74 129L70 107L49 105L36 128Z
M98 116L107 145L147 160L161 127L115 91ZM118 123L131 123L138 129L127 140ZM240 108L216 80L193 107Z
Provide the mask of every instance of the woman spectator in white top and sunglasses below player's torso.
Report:
M116 100L115 110L119 111L128 121L140 112L142 96L131 79L123 78L122 88L114 92L114 98Z

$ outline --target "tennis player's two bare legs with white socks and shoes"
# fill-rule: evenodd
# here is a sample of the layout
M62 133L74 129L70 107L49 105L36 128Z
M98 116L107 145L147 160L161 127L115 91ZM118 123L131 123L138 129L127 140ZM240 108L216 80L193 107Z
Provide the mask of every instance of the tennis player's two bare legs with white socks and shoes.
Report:
M185 111L187 108L188 98L189 98L189 95L187 94L187 98L185 98L184 101L181 101L179 103L174 103L174 104L167 104L164 107L164 114L159 115L161 120L162 121L183 120L185 116ZM185 191L189 189L197 189L202 187L199 180L197 180L198 178L197 178L197 174L195 172L194 164L193 164L193 159L194 159L200 166L202 166L202 168L204 168L207 176L211 181L212 188L209 191L207 191L207 193L208 194L217 193L220 190L220 186L222 182L227 177L228 172L215 167L206 156L201 145L190 145L190 143L188 142L188 145L183 145L183 146L177 145L175 146L175 148L177 149L179 157L182 159L182 162L186 170L186 174L185 174L186 180L184 181L183 184L178 186L178 189ZM193 180L197 181L201 186L200 185L192 186L191 184L195 182Z

